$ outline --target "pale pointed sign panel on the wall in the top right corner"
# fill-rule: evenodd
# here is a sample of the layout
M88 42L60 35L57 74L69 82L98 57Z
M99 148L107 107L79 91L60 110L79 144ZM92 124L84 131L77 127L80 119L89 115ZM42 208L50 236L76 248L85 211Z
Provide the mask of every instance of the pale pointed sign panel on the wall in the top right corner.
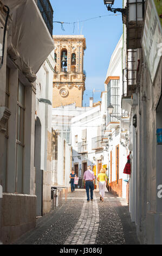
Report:
M150 71L152 83L162 54L162 30L161 23L157 13L160 13L161 5L157 0L147 1L144 29L141 38L141 45L145 54L148 69ZM162 1L160 0L160 3Z

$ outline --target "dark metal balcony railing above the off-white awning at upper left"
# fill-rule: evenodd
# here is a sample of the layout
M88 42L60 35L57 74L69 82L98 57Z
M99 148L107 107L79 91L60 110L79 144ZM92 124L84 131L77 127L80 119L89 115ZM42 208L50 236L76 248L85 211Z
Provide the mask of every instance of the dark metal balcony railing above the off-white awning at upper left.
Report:
M44 22L49 30L51 36L53 36L53 8L51 7L49 0L35 0L38 9L43 17Z

